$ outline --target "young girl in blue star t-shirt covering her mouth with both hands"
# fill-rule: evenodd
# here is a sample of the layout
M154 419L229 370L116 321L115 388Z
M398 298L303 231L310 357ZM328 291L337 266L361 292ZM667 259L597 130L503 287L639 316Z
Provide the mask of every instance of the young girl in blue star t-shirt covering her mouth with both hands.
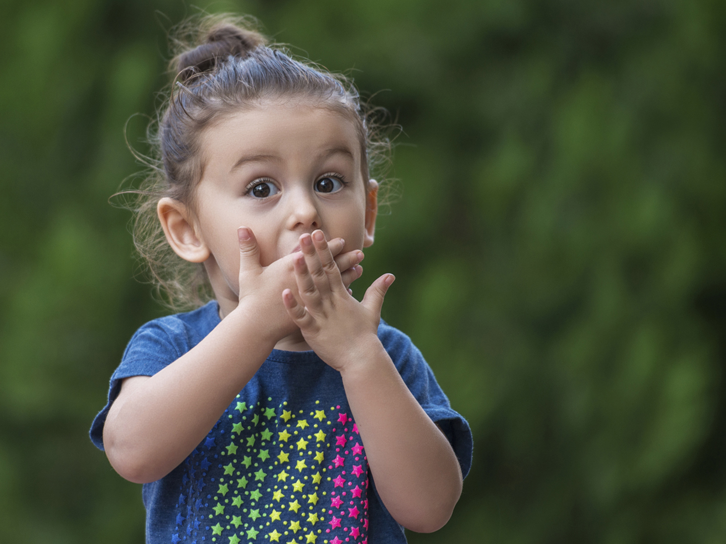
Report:
M148 193L160 236L136 242L197 263L216 300L134 334L91 426L118 474L144 484L147 542L439 529L472 439L409 338L380 322L393 276L362 302L348 290L378 194L356 91L229 20L203 20L175 62ZM172 296L197 292L150 264Z

